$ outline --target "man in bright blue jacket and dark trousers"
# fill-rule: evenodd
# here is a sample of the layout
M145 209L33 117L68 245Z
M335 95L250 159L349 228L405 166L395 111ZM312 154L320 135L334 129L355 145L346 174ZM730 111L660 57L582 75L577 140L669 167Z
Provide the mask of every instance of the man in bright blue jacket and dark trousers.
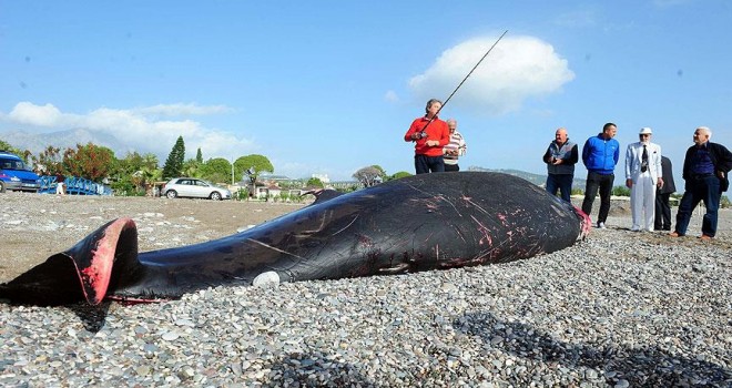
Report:
M600 214L598 214L597 223L599 228L604 228L604 222L610 212L610 194L616 180L614 170L620 157L620 143L612 139L617 132L616 124L607 123L602 126L602 133L588 139L582 147L582 163L588 171L582 212L588 216L592 213L592 203L599 188Z

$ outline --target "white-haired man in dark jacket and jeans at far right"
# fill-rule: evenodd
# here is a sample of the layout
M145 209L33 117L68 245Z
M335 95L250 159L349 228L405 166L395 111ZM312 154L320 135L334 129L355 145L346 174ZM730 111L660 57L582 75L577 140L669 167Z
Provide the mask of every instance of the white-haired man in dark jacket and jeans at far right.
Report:
M712 239L716 234L716 211L722 192L730 186L728 173L732 170L732 153L722 144L712 143L712 131L700 126L694 131L694 145L687 150L683 160L684 193L679 203L677 227L672 237L687 234L691 214L703 201L706 214L702 219L701 239Z

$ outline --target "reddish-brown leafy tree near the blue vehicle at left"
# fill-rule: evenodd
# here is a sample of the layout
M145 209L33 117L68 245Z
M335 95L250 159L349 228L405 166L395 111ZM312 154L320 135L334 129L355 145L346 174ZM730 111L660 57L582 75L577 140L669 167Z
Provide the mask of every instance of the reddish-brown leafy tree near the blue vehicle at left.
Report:
M116 159L114 152L105 146L87 143L77 144L77 149L63 152L63 167L70 175L101 182L113 171Z

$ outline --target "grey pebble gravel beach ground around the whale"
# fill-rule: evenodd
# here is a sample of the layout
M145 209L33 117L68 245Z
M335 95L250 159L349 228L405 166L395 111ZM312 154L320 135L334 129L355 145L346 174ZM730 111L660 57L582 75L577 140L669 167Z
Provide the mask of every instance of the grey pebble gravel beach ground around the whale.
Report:
M302 205L0 196L0 282L131 216L140 249ZM674 212L675 213L675 212ZM713 242L608 229L516 263L228 287L99 308L0 304L0 386L732 386L732 212Z

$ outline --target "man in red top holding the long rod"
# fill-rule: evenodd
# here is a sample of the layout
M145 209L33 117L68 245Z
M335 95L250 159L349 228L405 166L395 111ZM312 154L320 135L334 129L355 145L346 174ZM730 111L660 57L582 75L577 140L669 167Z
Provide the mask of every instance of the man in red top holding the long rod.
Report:
M445 171L443 147L450 142L447 123L439 120L437 113L443 102L436 99L427 101L426 114L415 119L404 135L405 142L415 142L415 170L417 174Z

